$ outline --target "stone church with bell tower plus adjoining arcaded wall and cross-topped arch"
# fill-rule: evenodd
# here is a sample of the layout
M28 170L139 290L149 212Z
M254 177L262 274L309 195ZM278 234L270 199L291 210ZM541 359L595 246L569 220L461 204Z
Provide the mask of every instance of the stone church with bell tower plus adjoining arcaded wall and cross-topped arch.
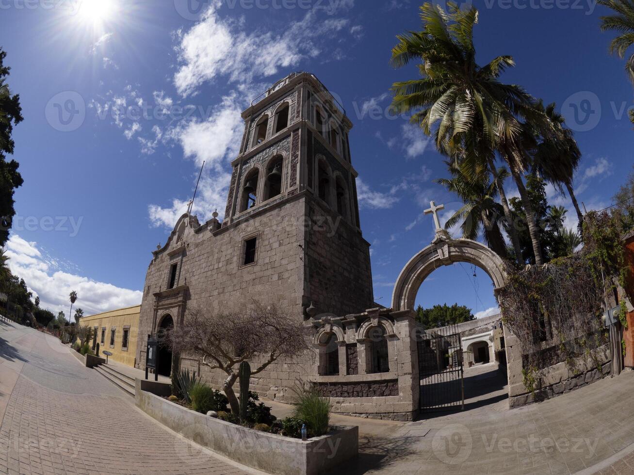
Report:
M167 243L152 253L136 366L145 368L147 335L178 326L188 306L233 312L255 299L275 303L314 328L315 357L270 365L252 378L260 395L288 402L297 381L310 381L330 397L335 412L400 421L417 417L425 391L434 390L425 387L420 358L436 352L438 371L446 371L451 361L444 353L454 351L442 329L425 331L417 324L418 288L437 267L467 262L481 267L497 291L505 285L505 263L481 243L440 232L435 214L440 207L432 202L436 239L406 263L391 308L380 307L373 300L370 244L359 222L348 140L353 124L344 108L313 74L301 72L276 82L242 118L223 222L217 213L203 224L185 213ZM506 326L500 338L509 402L531 402L534 395L522 384L518 340ZM545 351L559 343L545 342ZM609 355L601 359L609 361ZM157 371L169 375L172 355L166 348L160 348L159 362ZM221 388L225 375L198 360L183 355L176 364ZM601 376L590 366L581 374L570 374L562 364L553 369L544 381L546 394L557 393L567 379ZM459 390L462 382L451 384Z

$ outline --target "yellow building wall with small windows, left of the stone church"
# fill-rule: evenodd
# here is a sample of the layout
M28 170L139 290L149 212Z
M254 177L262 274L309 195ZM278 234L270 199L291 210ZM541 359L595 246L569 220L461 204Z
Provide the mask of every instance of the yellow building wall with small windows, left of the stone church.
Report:
M82 327L97 327L97 343L99 343L99 355L103 357L103 350L112 353L111 358L116 362L134 367L136 357L136 343L139 333L139 314L141 305L135 307L119 308L103 312L103 314L89 315L79 320ZM129 326L127 351L122 349L123 329ZM110 346L110 331L115 329L115 344ZM101 343L101 329L105 328L104 341ZM91 348L93 341L90 342Z

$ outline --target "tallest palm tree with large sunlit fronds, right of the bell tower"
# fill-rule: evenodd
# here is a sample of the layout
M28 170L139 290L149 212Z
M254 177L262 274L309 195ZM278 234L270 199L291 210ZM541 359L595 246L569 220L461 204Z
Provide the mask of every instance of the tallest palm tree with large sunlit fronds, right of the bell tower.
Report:
M401 112L420 110L412 121L420 124L425 134L433 133L437 149L460 160L467 174L475 177L488 170L494 176L515 255L519 262L525 262L503 180L495 176L496 153L507 162L524 202L535 261L543 263L539 231L522 182L530 148L520 119L530 120L531 127L540 129L547 120L534 108L534 98L524 89L498 80L506 68L515 65L511 56L498 56L483 67L475 63L473 28L477 9L461 9L451 2L447 5L448 11L444 11L425 3L420 7L422 32L398 36L392 65L400 67L421 60L418 68L422 78L395 83L392 104Z

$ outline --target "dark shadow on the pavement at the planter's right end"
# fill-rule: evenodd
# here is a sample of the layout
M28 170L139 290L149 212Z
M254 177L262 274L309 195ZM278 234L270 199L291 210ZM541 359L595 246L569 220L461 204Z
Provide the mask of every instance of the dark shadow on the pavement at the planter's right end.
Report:
M380 469L398 459L415 453L412 446L420 437L406 436L398 439L382 437L359 437L359 456L335 467L329 473L356 475Z

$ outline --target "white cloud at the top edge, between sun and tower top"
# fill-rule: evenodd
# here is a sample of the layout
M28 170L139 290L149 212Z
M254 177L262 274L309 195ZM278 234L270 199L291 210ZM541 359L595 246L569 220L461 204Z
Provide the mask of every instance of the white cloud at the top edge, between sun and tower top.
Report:
M343 3L340 6L345 8L354 4ZM245 83L274 75L304 58L315 58L324 39L348 25L344 18L323 20L312 9L280 35L265 30L245 32L241 22L220 18L219 6L220 0L213 1L200 22L188 32L179 32L176 52L181 66L174 75L174 85L182 96L219 75L226 75L230 82Z

